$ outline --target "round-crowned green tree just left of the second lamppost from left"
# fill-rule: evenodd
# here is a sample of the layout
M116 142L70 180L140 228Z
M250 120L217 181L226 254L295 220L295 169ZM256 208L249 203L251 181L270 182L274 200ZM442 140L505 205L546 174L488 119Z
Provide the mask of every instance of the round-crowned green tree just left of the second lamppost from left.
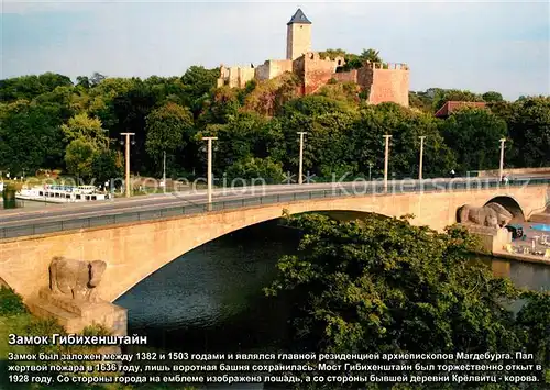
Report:
M161 166L164 152L170 155L185 147L188 137L184 135L193 127L193 114L189 109L176 103L168 102L147 115L145 147L157 167Z

